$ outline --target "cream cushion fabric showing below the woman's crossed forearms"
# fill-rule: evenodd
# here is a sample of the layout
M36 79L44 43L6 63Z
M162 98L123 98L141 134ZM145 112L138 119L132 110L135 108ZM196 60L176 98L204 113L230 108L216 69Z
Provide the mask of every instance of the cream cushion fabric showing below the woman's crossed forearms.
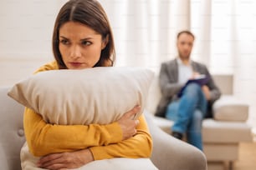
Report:
M38 162L37 157L33 157L28 151L27 143L24 143L21 150L21 166L23 169L43 170L43 168L37 168L36 163ZM156 166L151 162L150 158L112 158L94 161L84 165L81 168L75 168L79 170L156 170Z

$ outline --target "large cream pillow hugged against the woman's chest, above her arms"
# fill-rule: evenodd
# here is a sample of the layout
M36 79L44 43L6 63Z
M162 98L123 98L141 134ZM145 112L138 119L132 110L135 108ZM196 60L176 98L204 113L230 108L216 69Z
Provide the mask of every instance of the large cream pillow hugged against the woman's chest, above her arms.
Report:
M107 124L138 104L143 112L152 78L139 67L53 70L18 82L8 95L49 123Z

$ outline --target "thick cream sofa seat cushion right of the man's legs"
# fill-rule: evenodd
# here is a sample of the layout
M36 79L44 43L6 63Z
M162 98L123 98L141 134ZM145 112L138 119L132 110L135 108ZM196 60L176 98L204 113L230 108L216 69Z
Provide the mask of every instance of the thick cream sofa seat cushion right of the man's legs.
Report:
M251 127L245 122L224 122L205 119L202 122L203 143L251 142Z

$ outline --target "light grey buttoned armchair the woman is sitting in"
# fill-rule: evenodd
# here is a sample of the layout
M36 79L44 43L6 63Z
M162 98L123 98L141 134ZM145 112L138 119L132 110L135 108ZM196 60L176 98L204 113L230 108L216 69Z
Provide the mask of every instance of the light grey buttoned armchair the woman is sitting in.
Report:
M0 87L0 169L19 170L20 149L25 142L23 106L8 97L10 87ZM164 133L145 112L153 138L151 162L160 170L206 170L204 153ZM107 168L102 168L107 169Z

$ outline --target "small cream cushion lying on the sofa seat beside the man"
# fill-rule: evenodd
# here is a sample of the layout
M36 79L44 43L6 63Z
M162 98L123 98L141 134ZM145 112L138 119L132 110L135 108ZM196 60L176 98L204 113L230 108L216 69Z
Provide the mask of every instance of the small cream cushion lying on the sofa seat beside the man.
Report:
M222 96L213 105L213 117L218 121L245 122L248 119L248 104L233 96Z

